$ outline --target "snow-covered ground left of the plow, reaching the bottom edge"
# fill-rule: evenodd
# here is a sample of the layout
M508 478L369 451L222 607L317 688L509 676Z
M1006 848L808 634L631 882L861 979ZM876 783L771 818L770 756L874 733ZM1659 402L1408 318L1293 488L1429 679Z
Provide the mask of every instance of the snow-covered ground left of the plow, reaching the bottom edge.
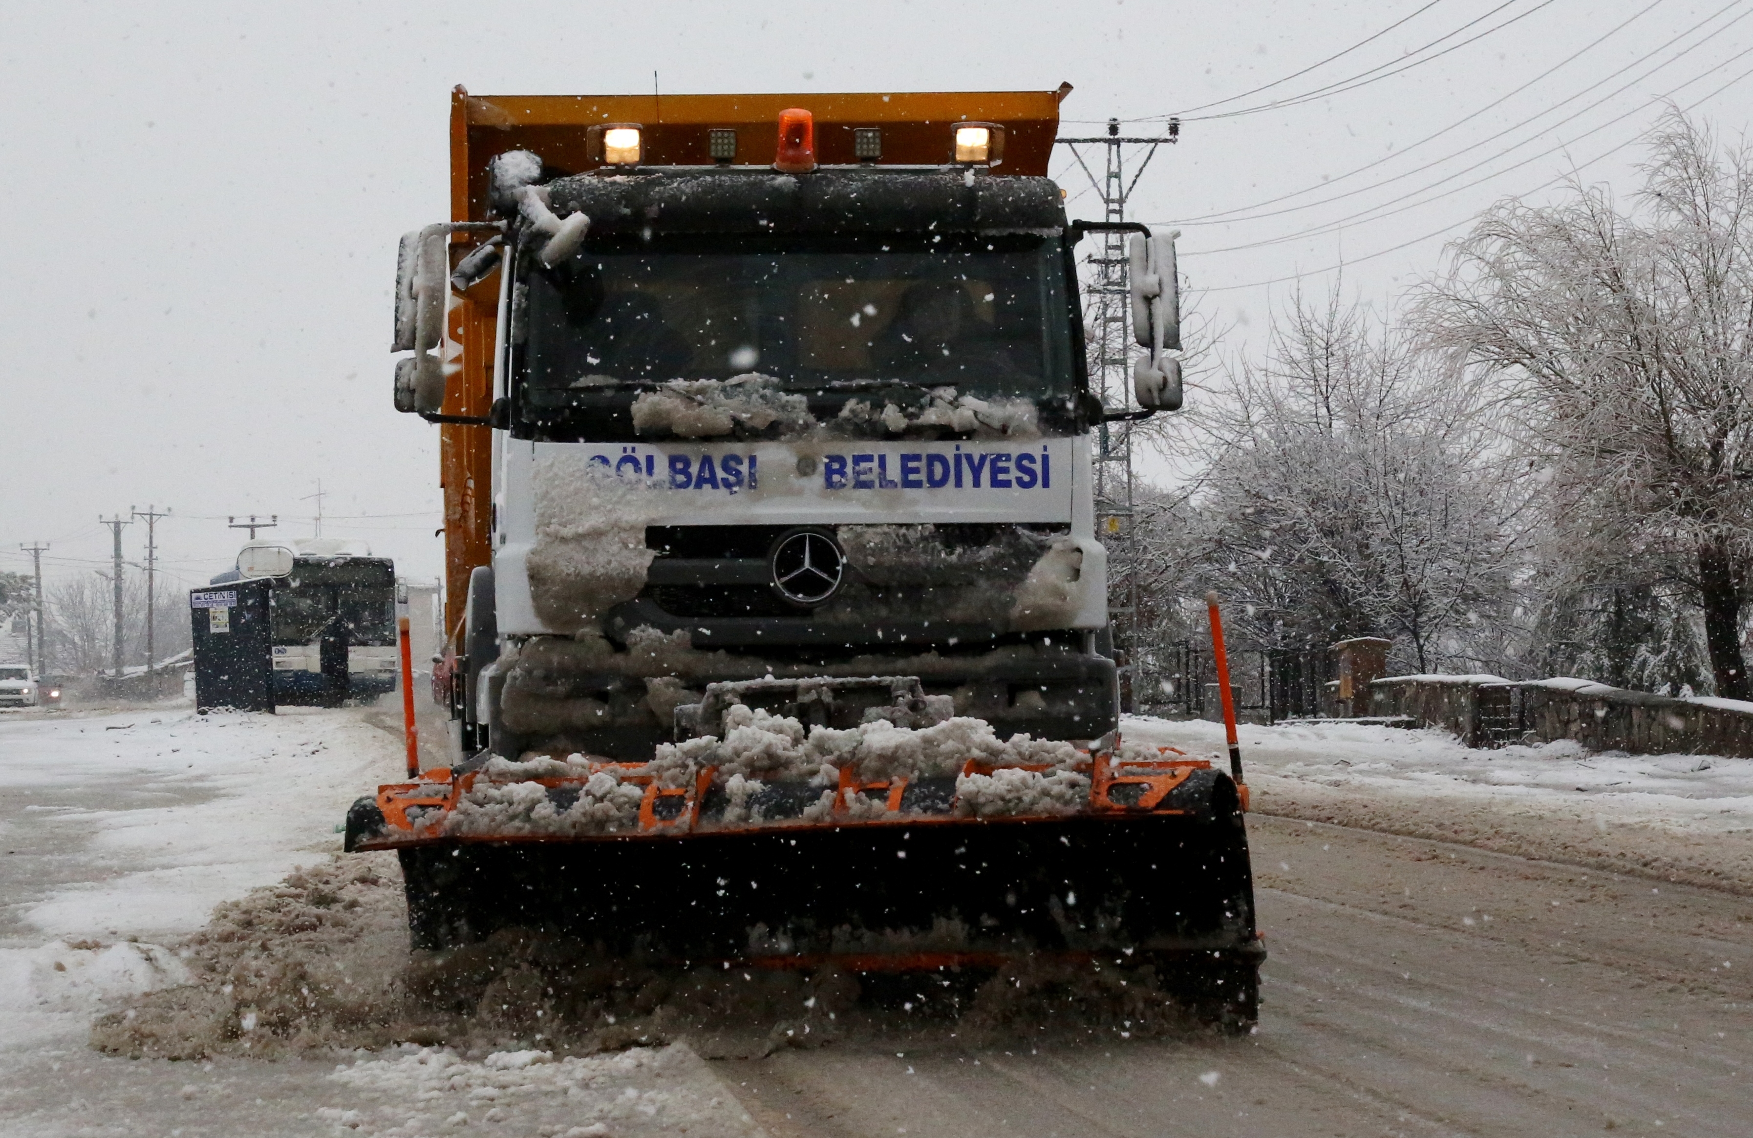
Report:
M685 1047L593 1061L403 1049L261 1063L131 1061L91 1017L179 984L214 905L340 850L347 805L401 777L358 708L186 705L0 717L0 1133L757 1134Z

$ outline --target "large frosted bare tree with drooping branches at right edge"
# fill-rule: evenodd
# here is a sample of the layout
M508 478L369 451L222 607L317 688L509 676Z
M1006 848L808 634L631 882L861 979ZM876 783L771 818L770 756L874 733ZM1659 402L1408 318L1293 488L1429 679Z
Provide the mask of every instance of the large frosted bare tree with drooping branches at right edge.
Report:
M1576 582L1664 559L1702 612L1716 694L1748 698L1753 161L1671 112L1644 188L1506 202L1422 296L1432 342L1502 386Z

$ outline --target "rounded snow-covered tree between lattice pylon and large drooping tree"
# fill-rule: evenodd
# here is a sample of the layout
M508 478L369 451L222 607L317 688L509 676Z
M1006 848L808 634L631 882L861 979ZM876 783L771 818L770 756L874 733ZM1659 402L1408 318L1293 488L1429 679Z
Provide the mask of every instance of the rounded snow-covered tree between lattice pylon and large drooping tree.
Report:
M1217 587L1264 647L1380 635L1420 670L1464 654L1508 603L1516 496L1469 389L1427 363L1366 309L1297 298L1264 363L1208 393L1210 465L1159 579Z

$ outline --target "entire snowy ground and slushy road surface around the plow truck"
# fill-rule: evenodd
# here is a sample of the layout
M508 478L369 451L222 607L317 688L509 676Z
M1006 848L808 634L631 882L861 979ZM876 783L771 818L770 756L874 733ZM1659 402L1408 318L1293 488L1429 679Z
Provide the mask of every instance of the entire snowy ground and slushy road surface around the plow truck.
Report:
M0 719L0 1133L1744 1134L1753 1117L1753 763L1341 726L1243 733L1273 954L1246 1040L710 1063L407 1047L340 1070L89 1050L96 1008L179 978L158 943L338 845L345 803L400 768L373 719Z

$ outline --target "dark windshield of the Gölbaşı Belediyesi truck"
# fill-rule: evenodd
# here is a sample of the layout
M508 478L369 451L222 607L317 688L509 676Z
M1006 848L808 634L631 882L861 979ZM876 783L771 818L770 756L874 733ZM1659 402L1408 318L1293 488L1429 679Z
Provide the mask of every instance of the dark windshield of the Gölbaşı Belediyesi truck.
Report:
M528 282L522 403L759 372L964 395L1071 391L1057 238L680 238L587 251Z

